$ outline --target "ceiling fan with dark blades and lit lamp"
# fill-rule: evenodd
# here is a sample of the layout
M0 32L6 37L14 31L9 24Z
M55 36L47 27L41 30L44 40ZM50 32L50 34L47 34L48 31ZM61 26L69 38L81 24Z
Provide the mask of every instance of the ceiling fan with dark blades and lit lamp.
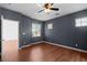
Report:
M58 9L58 8L53 8L53 4L54 4L54 3L45 3L45 4L43 6L44 9L40 10L39 13L40 13L40 12L43 12L43 11L45 11L46 13L50 13L51 10L53 10L53 11L58 11L59 9Z

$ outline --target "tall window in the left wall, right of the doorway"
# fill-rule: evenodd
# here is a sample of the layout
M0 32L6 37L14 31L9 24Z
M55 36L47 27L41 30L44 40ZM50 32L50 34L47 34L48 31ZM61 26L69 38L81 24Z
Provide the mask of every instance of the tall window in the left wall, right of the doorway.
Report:
M32 23L32 36L41 36L41 24Z

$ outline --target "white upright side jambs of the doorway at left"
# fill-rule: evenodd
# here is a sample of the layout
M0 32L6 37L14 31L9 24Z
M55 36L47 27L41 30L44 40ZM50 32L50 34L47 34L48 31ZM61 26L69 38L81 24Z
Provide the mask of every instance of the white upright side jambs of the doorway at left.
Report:
M2 43L3 43L3 40L2 40L2 22L3 22L3 15L1 15L1 59L2 59ZM6 19L6 20L8 20L8 19ZM17 22L18 22L18 26L19 26L19 24L20 24L20 22L18 21L18 20L15 20ZM20 45L19 45L19 39L20 36L19 36L19 28L18 28L18 50L20 50Z

